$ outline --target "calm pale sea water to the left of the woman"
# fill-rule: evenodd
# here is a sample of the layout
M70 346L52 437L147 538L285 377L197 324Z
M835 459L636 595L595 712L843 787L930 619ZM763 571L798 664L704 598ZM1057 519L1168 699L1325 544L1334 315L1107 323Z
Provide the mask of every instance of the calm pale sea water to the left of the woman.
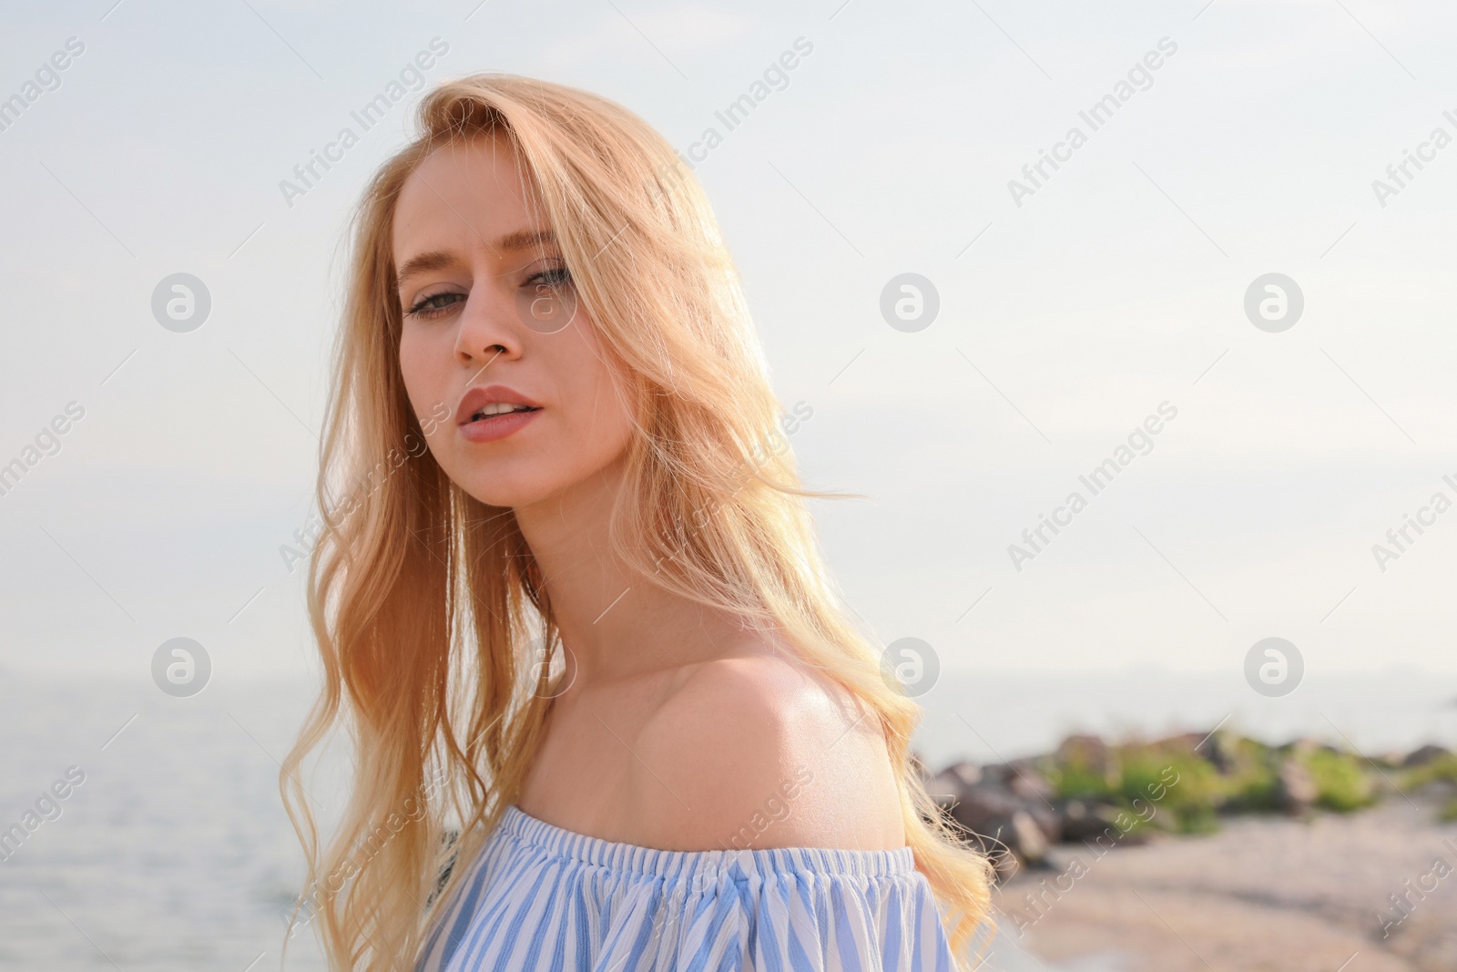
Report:
M302 869L274 758L305 704L278 686L178 699L4 678L0 826L68 767L86 777L0 863L0 969L278 968ZM323 968L303 934L288 952L287 968Z

